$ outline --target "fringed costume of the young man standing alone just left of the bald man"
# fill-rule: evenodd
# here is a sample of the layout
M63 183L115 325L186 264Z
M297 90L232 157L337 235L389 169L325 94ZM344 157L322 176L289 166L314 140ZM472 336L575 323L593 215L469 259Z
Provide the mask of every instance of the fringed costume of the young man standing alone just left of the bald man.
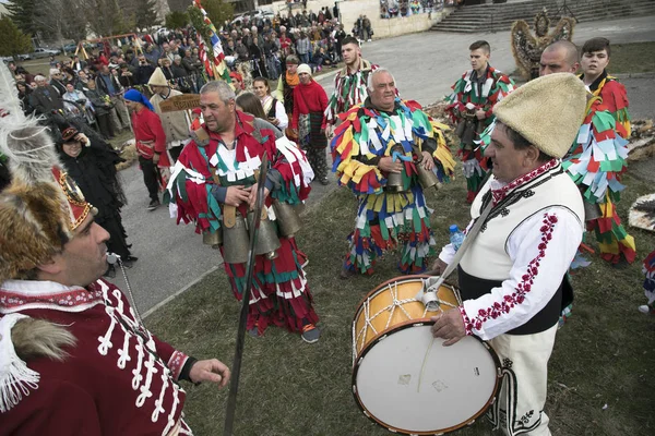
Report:
M461 140L458 154L468 190L466 201L472 203L487 171L486 159L475 141L493 121L493 106L514 90L514 82L489 65L485 76L479 78L475 70L468 70L452 89L453 93L445 98L450 104L446 112L457 124L456 133ZM484 120L476 118L475 111L478 109L485 111Z

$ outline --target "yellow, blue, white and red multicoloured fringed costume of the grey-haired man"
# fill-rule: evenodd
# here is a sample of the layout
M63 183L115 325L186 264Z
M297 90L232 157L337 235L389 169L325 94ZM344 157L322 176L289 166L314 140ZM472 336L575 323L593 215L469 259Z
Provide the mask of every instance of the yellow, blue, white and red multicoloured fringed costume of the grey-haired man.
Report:
M401 271L424 271L434 240L429 218L432 210L418 183L416 159L428 152L438 178L450 180L455 161L441 132L448 128L429 118L417 102L400 98L393 112L377 110L367 98L364 105L338 117L343 123L331 144L332 170L338 183L358 196L344 269L372 274L376 258L402 242ZM403 192L386 191L388 174L378 168L380 158L394 155L404 165Z

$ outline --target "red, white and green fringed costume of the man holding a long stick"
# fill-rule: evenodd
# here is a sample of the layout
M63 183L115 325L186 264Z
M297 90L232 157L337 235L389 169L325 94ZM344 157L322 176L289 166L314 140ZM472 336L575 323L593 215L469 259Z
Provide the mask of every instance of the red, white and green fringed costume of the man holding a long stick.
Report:
M178 222L194 222L196 233L222 231L226 206L215 192L234 185L252 186L254 171L266 152L270 170L266 186L271 193L265 206L269 219L275 220L273 199L290 205L307 198L313 173L305 154L286 137L276 140L271 124L243 112L236 112L236 145L230 150L221 135L207 132L210 142L205 146L189 143L174 167L168 187L178 207ZM213 175L215 173L215 177ZM247 217L248 206L241 203L237 213ZM312 296L302 269L305 255L299 252L294 238L279 238L277 257L255 257L254 281L250 300L247 328L258 328L261 335L270 324L300 331L303 324L315 324L318 316L312 307ZM224 246L221 246L224 253ZM225 263L233 291L238 300L246 288L243 264Z

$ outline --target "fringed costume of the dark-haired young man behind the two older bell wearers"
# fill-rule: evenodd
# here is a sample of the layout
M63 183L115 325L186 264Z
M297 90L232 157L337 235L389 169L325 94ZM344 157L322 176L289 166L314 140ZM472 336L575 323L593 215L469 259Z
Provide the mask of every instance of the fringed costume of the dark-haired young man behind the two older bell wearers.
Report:
M334 124L337 116L359 105L368 97L367 82L370 73L379 68L366 59L359 59L359 66L355 74L348 72L348 65L336 72L334 76L334 92L327 101L325 119Z

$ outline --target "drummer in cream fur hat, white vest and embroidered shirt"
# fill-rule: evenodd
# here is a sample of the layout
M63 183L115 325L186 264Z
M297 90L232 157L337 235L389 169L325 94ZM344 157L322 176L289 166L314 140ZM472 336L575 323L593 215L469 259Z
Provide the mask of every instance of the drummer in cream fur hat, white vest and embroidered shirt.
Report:
M550 435L548 360L572 299L567 270L584 230L582 196L560 159L585 106L586 89L573 74L536 78L496 105L496 122L483 135L493 170L471 206L467 231L490 211L479 233L466 237L475 239L458 264L462 305L432 318L444 346L475 335L503 362L488 417L510 436ZM434 269L443 272L454 256L445 245Z

